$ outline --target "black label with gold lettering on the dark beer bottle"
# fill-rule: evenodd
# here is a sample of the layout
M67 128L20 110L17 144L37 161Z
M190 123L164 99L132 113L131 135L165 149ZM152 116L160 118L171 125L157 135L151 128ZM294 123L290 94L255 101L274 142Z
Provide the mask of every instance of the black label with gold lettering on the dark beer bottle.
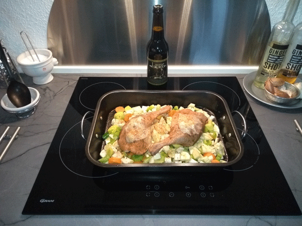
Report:
M147 80L153 85L161 85L168 80L168 58L152 60L147 58Z

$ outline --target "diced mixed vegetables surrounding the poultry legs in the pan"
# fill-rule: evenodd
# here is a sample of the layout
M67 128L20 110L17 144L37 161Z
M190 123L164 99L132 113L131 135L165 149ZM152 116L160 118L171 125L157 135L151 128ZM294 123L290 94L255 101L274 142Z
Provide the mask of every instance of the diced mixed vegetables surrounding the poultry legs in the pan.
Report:
M219 138L219 128L214 123L215 117L208 115L206 111L199 109L195 104L190 103L187 109L198 111L204 114L208 121L199 140L190 147L184 147L179 144L164 146L159 153L151 156L149 152L144 155L135 155L131 152L121 151L118 138L122 127L129 122L132 116L139 116L148 111L159 110L160 104L150 106L118 106L114 119L108 131L103 134L106 145L100 152L101 159L104 164L152 164L152 163L223 163L225 155L224 146ZM172 106L173 107L173 106ZM169 137L171 129L172 116L177 110L184 109L182 106L174 106L168 114L163 114L155 122L151 131L152 142L157 143ZM100 135L99 135L100 136Z

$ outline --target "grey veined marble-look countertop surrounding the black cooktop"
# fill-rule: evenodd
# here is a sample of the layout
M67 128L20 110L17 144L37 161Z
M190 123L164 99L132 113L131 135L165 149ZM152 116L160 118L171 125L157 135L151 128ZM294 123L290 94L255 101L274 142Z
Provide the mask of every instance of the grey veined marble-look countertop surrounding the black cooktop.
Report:
M83 74L84 75L84 74ZM46 85L35 85L25 76L28 86L38 89L41 99L35 114L18 119L0 109L0 132L7 126L10 134L21 127L19 138L0 164L0 226L3 225L302 225L302 216L211 216L211 215L22 215L22 210L44 157L60 123L79 74L54 74ZM85 76L123 76L86 74ZM127 74L125 76L145 76ZM172 75L180 76L180 75ZM184 75L181 75L184 76ZM188 76L192 76L191 74ZM196 76L196 75L195 75ZM198 76L221 76L199 74ZM232 74L222 75L232 76ZM245 74L236 74L241 85ZM243 87L243 86L242 86ZM0 96L5 94L0 89ZM283 109L265 105L245 92L254 114L283 171L291 191L302 209L302 136L293 120L302 124L302 108ZM7 141L3 141L3 150ZM282 191L280 191L282 195Z

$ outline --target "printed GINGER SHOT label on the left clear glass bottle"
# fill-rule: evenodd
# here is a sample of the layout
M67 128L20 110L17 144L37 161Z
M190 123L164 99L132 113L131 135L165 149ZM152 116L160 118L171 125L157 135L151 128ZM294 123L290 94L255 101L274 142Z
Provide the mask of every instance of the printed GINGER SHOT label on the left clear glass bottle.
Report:
M260 74L267 77L275 77L280 70L287 48L288 45L278 45L275 43L272 47L269 46L264 56L265 61Z

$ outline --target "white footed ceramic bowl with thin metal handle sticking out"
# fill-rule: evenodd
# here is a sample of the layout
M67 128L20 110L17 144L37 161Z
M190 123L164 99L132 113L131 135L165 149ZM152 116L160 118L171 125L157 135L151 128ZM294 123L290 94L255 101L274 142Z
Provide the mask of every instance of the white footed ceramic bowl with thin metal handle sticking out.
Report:
M26 75L33 77L33 82L35 84L42 85L52 81L53 76L50 72L52 71L53 66L58 64L57 59L52 57L52 52L48 49L36 49L40 61L38 61L33 50L31 50L30 53L35 61L32 60L28 51L21 53L17 57L17 62L22 71Z

